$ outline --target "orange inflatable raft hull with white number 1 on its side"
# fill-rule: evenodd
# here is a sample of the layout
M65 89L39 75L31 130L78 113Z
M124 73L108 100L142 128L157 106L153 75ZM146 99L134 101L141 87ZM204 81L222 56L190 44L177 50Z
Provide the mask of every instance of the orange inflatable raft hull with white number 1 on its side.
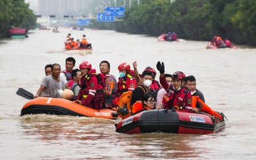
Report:
M21 109L21 116L25 114L55 114L70 116L89 116L97 118L118 118L116 108L96 110L82 106L66 99L39 97L29 100Z

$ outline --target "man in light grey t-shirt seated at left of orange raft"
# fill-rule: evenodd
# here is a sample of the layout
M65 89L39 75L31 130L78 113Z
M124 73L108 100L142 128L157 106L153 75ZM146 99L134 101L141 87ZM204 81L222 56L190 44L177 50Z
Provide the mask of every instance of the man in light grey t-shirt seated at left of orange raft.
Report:
M38 89L34 98L37 97L58 97L59 89L68 89L68 83L66 79L60 77L60 65L54 63L52 65L52 74L44 77L40 88ZM60 98L60 97L58 97Z

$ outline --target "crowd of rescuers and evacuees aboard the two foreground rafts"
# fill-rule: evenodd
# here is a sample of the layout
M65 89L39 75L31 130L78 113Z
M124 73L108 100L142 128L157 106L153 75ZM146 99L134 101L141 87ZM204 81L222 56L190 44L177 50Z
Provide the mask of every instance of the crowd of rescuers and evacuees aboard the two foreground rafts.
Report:
M198 96L204 101L204 95L196 89L195 77L186 77L182 71L176 71L172 75L165 73L164 62L157 62L159 81L155 79L157 71L153 67L146 67L140 74L137 61L133 61L133 69L127 62L120 63L117 67L118 79L109 74L108 61L99 63L100 73L96 73L89 61L82 61L78 69L74 69L75 64L76 60L69 57L66 58L65 70L61 70L58 63L46 65L46 77L42 79L34 98L64 98L100 110L116 107L121 95L131 91L129 115L155 108L202 111L200 105L192 107L192 97Z

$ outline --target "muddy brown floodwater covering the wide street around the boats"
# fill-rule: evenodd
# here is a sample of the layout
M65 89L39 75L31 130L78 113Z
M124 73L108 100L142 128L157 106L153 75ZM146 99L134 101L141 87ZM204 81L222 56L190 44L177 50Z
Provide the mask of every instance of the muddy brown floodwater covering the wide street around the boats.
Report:
M158 42L156 37L112 30L59 30L31 30L29 38L0 41L2 159L255 159L256 49L206 50L208 42ZM74 40L86 34L92 54L63 52L68 33ZM120 119L20 117L28 100L16 95L17 90L21 87L35 95L44 66L59 63L65 69L70 56L76 59L75 68L86 60L97 72L99 63L107 60L115 77L117 66L125 61L131 66L137 61L140 73L148 66L157 70L157 61L164 61L166 73L194 75L206 104L227 117L225 130L209 135L129 135L115 132Z

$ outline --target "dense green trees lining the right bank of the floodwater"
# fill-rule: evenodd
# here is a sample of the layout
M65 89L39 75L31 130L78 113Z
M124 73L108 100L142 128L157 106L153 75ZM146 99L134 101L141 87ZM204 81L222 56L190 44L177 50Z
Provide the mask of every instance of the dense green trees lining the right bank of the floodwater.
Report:
M141 0L127 8L118 32L211 40L213 36L256 46L256 3L251 0Z

